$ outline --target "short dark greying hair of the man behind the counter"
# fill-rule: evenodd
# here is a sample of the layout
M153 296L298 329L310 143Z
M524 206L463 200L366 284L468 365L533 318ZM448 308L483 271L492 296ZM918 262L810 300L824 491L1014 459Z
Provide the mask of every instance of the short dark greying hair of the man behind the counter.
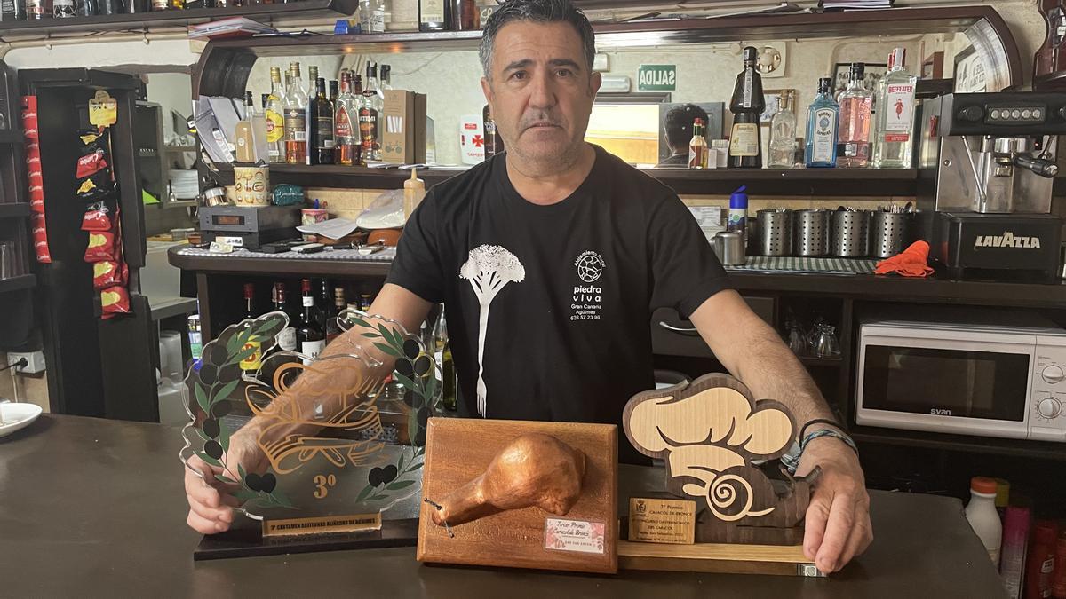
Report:
M503 26L513 21L568 22L572 25L578 36L581 37L581 46L585 53L585 66L592 72L593 60L596 56L593 26L588 23L585 14L576 9L570 0L506 0L485 21L485 31L482 33L481 45L478 47L478 58L481 59L481 68L485 72L485 77L491 78L492 45L496 43L496 34L503 29Z

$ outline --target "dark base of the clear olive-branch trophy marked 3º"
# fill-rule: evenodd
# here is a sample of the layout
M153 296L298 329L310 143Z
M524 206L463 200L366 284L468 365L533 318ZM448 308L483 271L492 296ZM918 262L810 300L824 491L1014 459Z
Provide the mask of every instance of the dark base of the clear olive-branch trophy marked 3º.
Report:
M417 519L385 520L382 522L381 530L376 531L278 537L263 537L262 524L258 521L248 518L240 520L243 521L229 531L205 536L196 546L196 550L193 551L193 560L226 560L314 551L414 547L418 541Z

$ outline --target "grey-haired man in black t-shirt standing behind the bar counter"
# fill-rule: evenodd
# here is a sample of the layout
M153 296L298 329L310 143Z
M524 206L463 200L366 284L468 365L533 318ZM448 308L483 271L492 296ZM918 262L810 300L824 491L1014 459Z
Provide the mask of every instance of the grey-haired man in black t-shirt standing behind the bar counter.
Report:
M480 54L507 150L430 191L370 312L417 330L443 302L463 416L618 423L628 399L653 387L651 310L673 306L756 396L781 401L801 423L830 419L804 368L730 289L677 195L583 141L600 85L594 52L592 27L569 0L500 5ZM323 355L358 341L358 331L345 334ZM325 401L316 385L350 386L366 374L322 370L275 402ZM255 420L238 431L227 460L261 467L252 442L259 432ZM635 456L624 437L619 446L623 459ZM815 465L823 474L804 548L831 572L872 539L869 499L840 438L806 444L798 473ZM193 466L189 524L228 529L236 500L207 465Z

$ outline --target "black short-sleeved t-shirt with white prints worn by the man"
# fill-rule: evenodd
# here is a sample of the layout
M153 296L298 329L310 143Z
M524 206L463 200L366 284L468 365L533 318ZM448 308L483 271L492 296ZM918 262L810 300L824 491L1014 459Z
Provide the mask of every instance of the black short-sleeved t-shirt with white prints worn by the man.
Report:
M443 302L462 416L620 425L655 387L651 311L688 317L729 279L677 194L602 148L550 206L518 195L505 158L430 190L387 282Z

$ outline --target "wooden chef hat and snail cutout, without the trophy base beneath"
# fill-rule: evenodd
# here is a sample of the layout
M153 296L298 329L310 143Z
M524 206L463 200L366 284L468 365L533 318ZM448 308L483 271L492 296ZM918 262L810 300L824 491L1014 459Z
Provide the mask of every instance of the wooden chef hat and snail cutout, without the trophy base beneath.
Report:
M633 395L623 412L623 426L639 452L665 460L671 493L706 508L697 522L697 543L795 541L792 529L806 512L813 476L804 481L785 473L784 488L775 489L752 464L778 458L792 447L796 424L784 404L756 401L727 374L707 374L691 384ZM722 524L789 532L738 535L722 532Z

